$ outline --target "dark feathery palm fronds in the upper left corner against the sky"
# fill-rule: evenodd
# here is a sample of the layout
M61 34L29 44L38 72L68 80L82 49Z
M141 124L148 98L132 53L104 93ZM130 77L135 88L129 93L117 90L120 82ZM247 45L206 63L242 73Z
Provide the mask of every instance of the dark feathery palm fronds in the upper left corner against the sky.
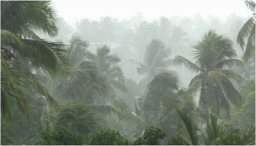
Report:
M15 34L40 29L56 36L56 12L51 1L2 1L1 28Z

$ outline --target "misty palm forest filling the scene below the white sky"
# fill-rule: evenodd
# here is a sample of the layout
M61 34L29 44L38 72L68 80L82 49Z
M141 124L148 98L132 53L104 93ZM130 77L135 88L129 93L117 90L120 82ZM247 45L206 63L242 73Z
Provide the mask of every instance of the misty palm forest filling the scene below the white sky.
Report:
M54 4L1 1L1 145L255 145L254 1L75 25Z

